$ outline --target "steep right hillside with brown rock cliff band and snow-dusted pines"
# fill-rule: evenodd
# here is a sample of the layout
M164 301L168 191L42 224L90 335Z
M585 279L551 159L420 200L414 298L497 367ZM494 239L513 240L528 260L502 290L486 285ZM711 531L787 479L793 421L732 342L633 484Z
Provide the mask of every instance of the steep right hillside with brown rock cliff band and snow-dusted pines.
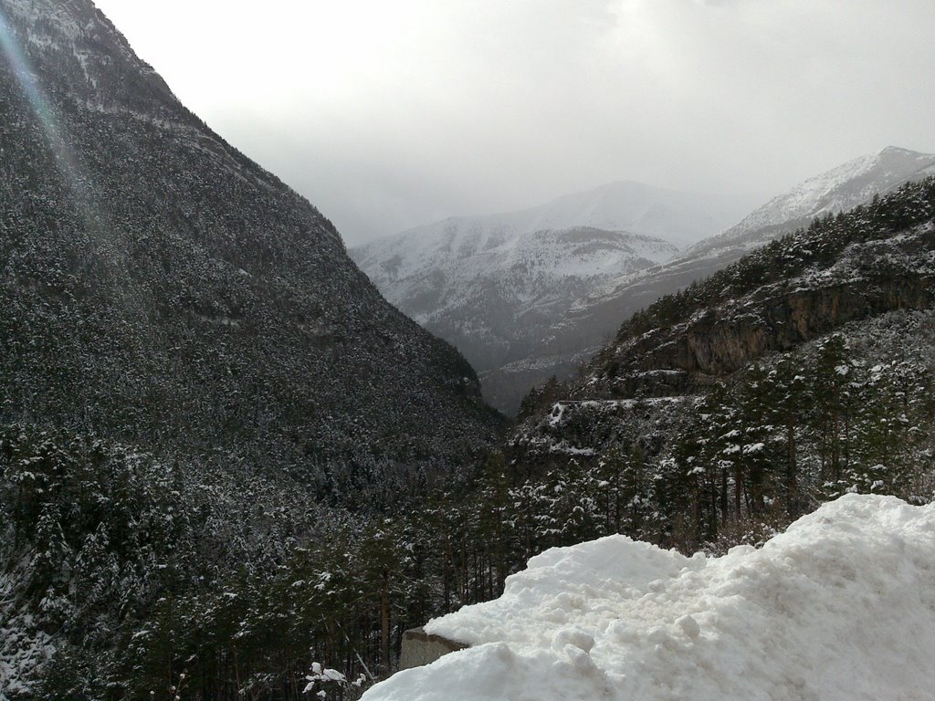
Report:
M573 522L611 500L624 532L688 550L848 491L928 501L933 308L926 179L632 317L581 379L527 397L513 469L570 469L569 501L598 509Z

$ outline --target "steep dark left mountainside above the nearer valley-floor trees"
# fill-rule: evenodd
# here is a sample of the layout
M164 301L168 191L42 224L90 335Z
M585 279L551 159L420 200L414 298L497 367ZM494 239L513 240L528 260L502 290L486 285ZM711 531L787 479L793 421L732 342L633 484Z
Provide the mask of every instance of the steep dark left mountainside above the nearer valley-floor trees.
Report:
M0 41L0 420L358 484L493 438L465 359L90 0L0 0Z

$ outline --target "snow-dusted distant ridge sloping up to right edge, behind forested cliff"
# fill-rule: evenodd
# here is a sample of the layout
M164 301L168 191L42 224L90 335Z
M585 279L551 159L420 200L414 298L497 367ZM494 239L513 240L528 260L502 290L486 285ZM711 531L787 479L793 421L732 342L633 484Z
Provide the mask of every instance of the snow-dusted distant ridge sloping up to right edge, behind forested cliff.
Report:
M497 368L496 378L484 377L485 386L532 386L552 375L568 377L570 368L597 352L621 322L659 297L711 276L750 250L807 226L815 217L856 207L876 193L924 177L933 168L933 155L890 147L805 180L672 260L613 279L576 300L543 333L535 353Z

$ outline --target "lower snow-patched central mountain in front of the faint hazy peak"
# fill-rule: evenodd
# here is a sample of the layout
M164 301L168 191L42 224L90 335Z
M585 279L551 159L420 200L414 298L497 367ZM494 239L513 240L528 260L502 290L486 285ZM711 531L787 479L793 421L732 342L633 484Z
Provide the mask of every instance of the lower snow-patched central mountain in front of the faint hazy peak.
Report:
M526 232L502 243L448 234L442 250L438 238L419 252L396 239L355 255L391 302L455 343L482 371L535 352L541 331L600 281L676 250L657 238L585 227Z

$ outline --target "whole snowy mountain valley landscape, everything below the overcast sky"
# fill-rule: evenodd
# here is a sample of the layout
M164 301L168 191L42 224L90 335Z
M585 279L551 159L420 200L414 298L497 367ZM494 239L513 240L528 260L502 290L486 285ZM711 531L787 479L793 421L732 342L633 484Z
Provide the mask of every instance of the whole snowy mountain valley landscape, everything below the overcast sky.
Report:
M754 207L349 249L91 0L0 0L0 701L928 698L935 156Z

